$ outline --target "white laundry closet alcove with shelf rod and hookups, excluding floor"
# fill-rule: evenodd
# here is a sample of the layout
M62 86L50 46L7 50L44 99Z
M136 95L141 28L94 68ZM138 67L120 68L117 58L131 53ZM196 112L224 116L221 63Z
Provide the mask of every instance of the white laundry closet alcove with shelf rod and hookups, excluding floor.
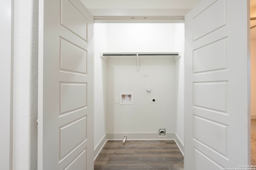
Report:
M95 156L124 136L183 151L183 54L184 23L94 24Z

